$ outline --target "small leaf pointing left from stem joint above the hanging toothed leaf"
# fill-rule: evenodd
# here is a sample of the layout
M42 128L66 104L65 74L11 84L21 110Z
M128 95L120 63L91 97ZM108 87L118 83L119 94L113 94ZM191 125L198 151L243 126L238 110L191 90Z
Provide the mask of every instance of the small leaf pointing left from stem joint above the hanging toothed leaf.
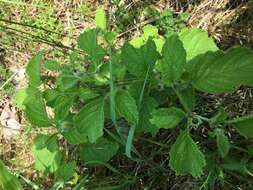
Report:
M185 113L179 108L159 108L152 113L150 122L158 129L171 129L176 127L184 117Z

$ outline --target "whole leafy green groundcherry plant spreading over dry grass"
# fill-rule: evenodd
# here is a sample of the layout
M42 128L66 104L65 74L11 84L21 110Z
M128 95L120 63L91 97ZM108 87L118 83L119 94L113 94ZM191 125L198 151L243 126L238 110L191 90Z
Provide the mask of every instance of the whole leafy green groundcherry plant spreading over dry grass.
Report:
M59 149L62 139L78 150L76 157L84 164L104 166L116 154L138 162L141 155L134 139L146 133L155 136L163 129L179 132L168 150L167 167L176 175L197 178L205 171L211 175L215 166L208 164L210 154L194 140L192 131L210 128L221 160L228 160L231 152L226 130L235 130L245 139L253 137L251 115L231 118L220 108L207 118L195 111L197 94L253 86L250 49L219 50L200 29L184 29L164 38L152 25L115 48L117 34L107 31L102 8L96 24L77 39L83 56L73 52L68 64L60 64L45 60L41 51L28 63L29 86L17 92L17 105L32 126L57 131L34 139L39 172L53 174L58 181L73 177L76 162Z

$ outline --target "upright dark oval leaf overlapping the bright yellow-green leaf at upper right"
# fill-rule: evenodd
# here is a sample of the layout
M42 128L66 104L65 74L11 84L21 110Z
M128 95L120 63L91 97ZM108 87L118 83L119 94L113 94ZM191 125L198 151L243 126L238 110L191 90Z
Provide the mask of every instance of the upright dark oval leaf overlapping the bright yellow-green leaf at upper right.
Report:
M173 81L180 80L186 64L186 52L178 35L173 34L167 38L162 55L160 64L162 81L165 84L171 84Z

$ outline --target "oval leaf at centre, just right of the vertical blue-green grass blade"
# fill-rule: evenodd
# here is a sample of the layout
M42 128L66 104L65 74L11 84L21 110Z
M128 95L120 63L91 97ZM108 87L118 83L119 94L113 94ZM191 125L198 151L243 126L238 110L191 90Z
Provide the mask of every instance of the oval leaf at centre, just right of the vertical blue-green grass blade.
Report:
M116 111L129 123L137 124L139 119L138 108L135 99L126 90L119 90L115 95Z

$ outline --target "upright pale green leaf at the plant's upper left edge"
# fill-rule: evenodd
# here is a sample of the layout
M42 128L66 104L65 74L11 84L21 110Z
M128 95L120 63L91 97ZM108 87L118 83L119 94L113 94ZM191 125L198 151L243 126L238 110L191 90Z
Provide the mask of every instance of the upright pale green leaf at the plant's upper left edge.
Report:
M26 67L26 73L31 87L38 87L41 83L40 69L42 56L42 52L33 56Z

